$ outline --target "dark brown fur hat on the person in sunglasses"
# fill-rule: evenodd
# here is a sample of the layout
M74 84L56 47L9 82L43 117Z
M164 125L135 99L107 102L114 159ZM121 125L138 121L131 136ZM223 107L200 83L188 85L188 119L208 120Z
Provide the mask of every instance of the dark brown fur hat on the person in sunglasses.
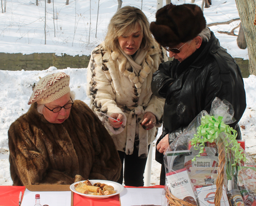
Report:
M150 30L162 46L174 47L194 39L206 27L201 8L194 4L169 5L159 9Z

